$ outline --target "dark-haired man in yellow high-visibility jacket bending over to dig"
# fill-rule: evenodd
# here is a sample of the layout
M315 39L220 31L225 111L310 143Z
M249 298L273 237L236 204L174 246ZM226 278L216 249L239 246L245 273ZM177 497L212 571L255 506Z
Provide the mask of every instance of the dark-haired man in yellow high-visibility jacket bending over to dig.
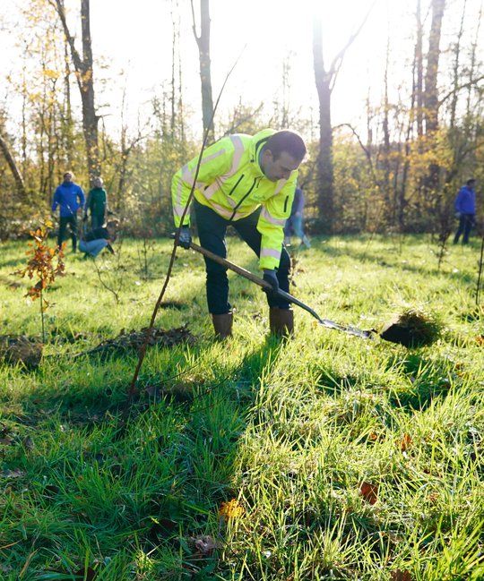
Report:
M193 207L200 244L226 258L225 234L233 226L259 257L267 293L271 332L287 336L294 329L290 303L275 293L289 291L290 257L283 246L283 227L290 209L298 167L307 153L298 133L265 129L254 136L234 134L203 151L196 176L198 156L173 177L171 194L175 225L180 226L192 186ZM190 214L186 212L178 244L189 248ZM227 269L205 258L206 292L215 335L232 333Z

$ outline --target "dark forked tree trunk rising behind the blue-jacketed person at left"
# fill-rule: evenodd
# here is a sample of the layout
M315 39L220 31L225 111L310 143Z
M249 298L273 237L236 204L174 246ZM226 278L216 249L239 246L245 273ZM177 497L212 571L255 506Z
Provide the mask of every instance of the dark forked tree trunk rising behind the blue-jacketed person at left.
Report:
M100 175L98 122L94 98L94 78L92 62L90 0L81 0L81 26L82 26L82 58L79 55L73 36L70 33L65 18L64 0L55 0L56 11L64 28L65 38L71 49L71 57L77 78L77 84L82 100L82 131L86 144L89 181Z

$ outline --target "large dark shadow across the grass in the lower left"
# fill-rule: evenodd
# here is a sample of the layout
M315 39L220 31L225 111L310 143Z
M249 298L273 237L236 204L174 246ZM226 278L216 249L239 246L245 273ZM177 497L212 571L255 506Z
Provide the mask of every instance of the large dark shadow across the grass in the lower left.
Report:
M122 545L126 554L131 552L126 571L134 553L141 551L150 554L159 575L213 578L219 566L216 549L224 534L218 510L222 502L237 498L234 464L246 416L259 378L281 354L283 344L270 337L241 363L212 370L196 365L206 348L194 346L189 353L182 346L160 349L160 356L166 355L160 359L164 366L155 372L149 362L151 371L140 376L140 396L127 418L123 406L126 378L131 376L126 370L134 370L135 356L122 367L117 367L118 360L89 358L65 364L55 381L54 363L45 372L19 374L21 381L35 376L39 385L49 376L50 385L21 393L16 399L20 413L10 417L12 424L21 426L13 427L19 442L26 441L26 433L34 435L29 446L11 447L4 467L22 473L13 481L13 490L28 485L36 506L36 514L26 517L24 543L16 545L18 561L8 563L13 571L22 569L34 537L37 552L31 567L43 570L51 551L72 553L73 536L84 530L101 554ZM109 365L113 370L103 375ZM73 389L69 377L73 382L81 379L80 370L91 379ZM190 388L189 397L161 389L176 375ZM45 456L42 450L50 440ZM39 519L54 515L65 526L39 533ZM88 547L86 541L75 552L82 555ZM75 567L83 564L82 557ZM100 562L94 566L99 578L108 567Z

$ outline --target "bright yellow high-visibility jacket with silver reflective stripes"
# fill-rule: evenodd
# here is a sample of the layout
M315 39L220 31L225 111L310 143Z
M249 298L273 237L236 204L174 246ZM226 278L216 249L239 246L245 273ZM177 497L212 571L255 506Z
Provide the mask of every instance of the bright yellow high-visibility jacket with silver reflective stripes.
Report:
M274 131L264 129L254 136L238 133L217 141L203 151L194 186L194 197L230 221L246 218L260 206L257 230L262 235L261 269L277 269L281 261L283 227L290 216L298 171L288 180L271 182L259 166L259 153ZM198 156L173 176L171 196L175 226L192 190ZM190 223L186 213L185 225Z

